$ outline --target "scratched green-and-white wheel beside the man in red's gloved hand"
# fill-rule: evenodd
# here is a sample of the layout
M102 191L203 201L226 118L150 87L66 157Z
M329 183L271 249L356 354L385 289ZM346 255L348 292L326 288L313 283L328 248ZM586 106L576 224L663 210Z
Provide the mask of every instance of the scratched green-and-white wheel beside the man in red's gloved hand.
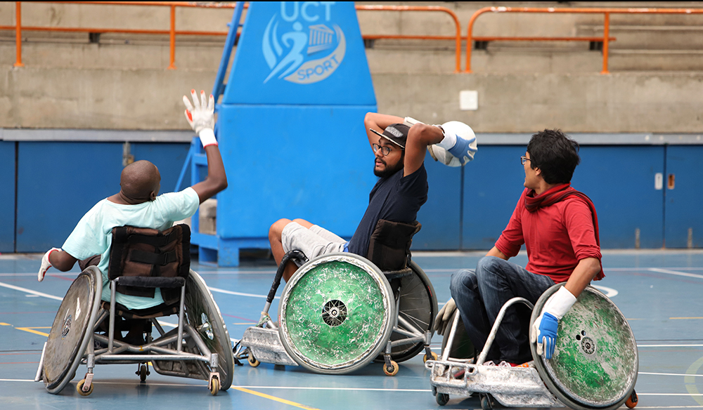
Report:
M532 311L532 324L559 286L547 289ZM617 409L631 396L638 371L637 344L617 306L592 286L562 317L552 359L537 355L539 375L550 392L572 409Z

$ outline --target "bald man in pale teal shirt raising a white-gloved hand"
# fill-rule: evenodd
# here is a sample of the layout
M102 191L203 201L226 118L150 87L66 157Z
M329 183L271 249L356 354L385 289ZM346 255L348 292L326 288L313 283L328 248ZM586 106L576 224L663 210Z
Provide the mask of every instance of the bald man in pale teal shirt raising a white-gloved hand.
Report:
M158 195L161 176L154 164L136 161L124 167L120 176L120 192L93 206L66 239L63 249L53 248L41 258L39 282L51 266L66 272L78 260L100 255L98 269L103 274L102 300L109 301L108 265L113 227L131 225L165 230L174 221L192 216L202 201L227 187L227 176L213 131L214 98L210 95L209 100L206 100L205 91L200 91L200 101L195 90L191 90L191 95L192 105L183 96L186 119L205 147L207 178L181 192ZM145 309L163 303L159 289L156 289L153 298L117 293L116 301L128 309Z

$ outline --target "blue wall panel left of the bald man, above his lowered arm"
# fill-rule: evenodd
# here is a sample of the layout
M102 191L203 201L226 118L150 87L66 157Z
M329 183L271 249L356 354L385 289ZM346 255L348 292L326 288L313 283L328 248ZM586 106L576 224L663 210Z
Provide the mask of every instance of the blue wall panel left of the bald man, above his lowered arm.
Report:
M17 251L61 246L121 172L122 143L19 143Z

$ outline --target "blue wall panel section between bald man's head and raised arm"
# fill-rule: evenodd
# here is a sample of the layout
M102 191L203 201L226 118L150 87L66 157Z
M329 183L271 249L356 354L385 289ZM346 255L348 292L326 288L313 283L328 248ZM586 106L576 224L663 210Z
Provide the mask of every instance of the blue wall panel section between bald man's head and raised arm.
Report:
M134 161L146 159L159 168L160 193L163 194L173 192L190 147L189 143L132 143L131 153L134 155ZM191 173L187 171L181 190L189 185L191 185Z

